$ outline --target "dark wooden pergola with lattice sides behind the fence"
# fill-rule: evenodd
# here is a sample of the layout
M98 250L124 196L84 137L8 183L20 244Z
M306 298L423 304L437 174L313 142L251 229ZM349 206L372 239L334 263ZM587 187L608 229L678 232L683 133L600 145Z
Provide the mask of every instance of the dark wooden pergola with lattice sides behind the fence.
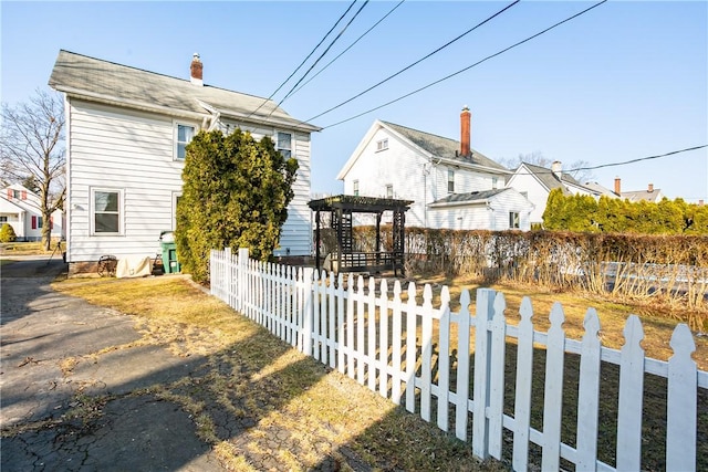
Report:
M381 272L393 270L404 272L404 241L405 241L405 213L410 207L410 200L395 200L392 198L360 197L339 195L312 200L308 204L315 212L315 265L322 266L320 254L322 211L330 212L331 227L336 231L336 253L332 262L336 261L335 272ZM382 216L393 212L393 248L392 251L381 250L381 220ZM376 217L376 250L374 252L355 252L354 234L352 227L353 213L373 213ZM336 259L334 259L336 258Z

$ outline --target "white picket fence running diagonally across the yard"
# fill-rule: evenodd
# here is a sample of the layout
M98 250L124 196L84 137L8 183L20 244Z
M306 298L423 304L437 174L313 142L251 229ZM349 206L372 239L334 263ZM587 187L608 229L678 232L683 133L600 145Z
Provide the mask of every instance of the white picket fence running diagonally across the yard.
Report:
M480 289L476 313L470 294L462 291L460 310L451 313L450 296L442 287L440 307L433 306L433 291L424 289L417 304L416 287L403 290L398 281L389 293L386 280L348 274L320 275L313 269L261 263L248 250L232 254L212 251L211 293L302 353L348 375L373 391L435 420L457 438L471 440L473 453L501 459L503 430L512 438L512 464L529 466L529 449L541 449L542 470L559 470L561 458L575 470L642 470L642 422L645 374L666 378L666 470L696 470L698 388L708 388L708 373L691 359L695 350L688 327L679 324L670 339L668 361L645 357L644 331L632 315L624 328L621 350L602 346L600 319L594 308L585 315L582 340L565 337L563 308L555 303L548 333L534 331L531 302L521 304L521 322L507 324L502 293ZM346 282L346 283L345 283ZM434 329L435 326L435 329ZM412 335L408 335L412 334ZM451 336L452 334L452 336ZM513 416L503 411L507 343L516 339ZM451 345L452 342L452 345ZM545 349L542 431L531 426L534 348ZM456 350L455 357L448 355ZM580 355L575 444L561 439L564 361L566 353ZM473 376L470 378L470 355ZM620 369L615 463L597 459L601 364ZM471 388L470 388L471 385ZM535 388L539 388L538 386ZM470 397L471 394L471 397ZM472 415L471 431L470 416Z

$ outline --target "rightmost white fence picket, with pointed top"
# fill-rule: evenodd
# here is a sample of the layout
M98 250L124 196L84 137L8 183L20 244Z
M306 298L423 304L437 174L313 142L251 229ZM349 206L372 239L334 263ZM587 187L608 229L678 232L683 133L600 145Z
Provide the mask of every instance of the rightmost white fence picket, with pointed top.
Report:
M666 470L696 470L697 371L690 358L696 350L690 329L680 323L670 340L668 359Z

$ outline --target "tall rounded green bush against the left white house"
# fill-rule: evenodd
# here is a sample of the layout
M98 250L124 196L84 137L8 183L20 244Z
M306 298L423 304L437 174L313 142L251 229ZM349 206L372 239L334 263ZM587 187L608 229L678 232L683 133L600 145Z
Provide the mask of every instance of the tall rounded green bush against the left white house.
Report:
M269 137L200 132L187 146L175 241L183 271L209 280L211 249L248 248L268 260L294 196L298 160Z

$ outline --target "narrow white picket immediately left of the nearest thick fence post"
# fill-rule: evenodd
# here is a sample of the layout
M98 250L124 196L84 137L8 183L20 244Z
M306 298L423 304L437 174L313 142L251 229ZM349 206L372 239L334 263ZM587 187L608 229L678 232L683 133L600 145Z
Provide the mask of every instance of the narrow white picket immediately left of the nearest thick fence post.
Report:
M467 289L460 293L460 313L457 323L457 402L455 403L455 436L467 441L469 407L469 340L470 340L470 296Z

